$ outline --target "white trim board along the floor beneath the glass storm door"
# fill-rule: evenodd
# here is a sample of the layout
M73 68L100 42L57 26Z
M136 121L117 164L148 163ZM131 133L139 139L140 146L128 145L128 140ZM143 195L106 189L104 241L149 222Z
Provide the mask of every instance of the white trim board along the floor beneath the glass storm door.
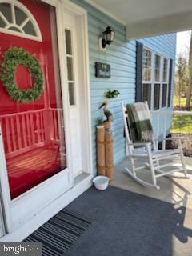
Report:
M80 194L90 188L92 186L92 178L92 175L84 178L82 182L79 182L71 190L62 194L57 200L34 215L34 218L30 218L30 221L25 222L17 230L0 238L0 242L22 242L23 239L32 234L70 202L74 201L75 198L78 198Z

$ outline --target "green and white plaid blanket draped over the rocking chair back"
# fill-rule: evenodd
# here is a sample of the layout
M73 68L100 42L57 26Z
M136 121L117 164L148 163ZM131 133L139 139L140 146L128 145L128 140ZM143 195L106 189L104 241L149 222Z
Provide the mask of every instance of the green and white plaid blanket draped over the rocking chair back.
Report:
M146 103L138 102L128 104L127 114L130 126L130 137L133 142L152 142L154 133Z

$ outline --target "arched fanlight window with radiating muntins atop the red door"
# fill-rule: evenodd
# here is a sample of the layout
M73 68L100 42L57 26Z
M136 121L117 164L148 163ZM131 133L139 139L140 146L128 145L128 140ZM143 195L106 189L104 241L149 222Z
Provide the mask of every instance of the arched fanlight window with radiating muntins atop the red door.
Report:
M0 0L0 32L42 41L42 34L33 14L15 0Z

